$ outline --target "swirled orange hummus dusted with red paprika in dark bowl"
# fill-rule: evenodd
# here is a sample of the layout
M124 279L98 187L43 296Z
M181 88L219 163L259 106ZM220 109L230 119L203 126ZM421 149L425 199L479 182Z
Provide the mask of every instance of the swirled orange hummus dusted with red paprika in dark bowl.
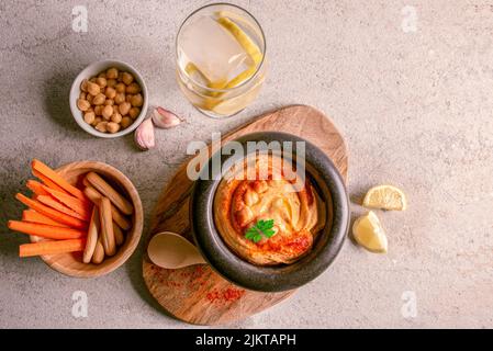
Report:
M325 204L307 180L300 183L296 173L290 179L283 176L279 157L256 156L258 179L247 179L246 165L245 160L221 181L213 205L215 226L244 260L258 265L293 263L312 248L325 226ZM267 178L259 177L261 167L267 167ZM245 233L259 219L273 219L276 234L254 242Z

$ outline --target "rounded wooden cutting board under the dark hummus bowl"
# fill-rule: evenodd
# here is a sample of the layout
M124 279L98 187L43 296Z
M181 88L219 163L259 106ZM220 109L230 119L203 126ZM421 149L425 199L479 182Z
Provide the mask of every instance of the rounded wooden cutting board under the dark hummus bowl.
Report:
M333 160L347 181L348 154L343 136L322 112L304 105L293 105L266 113L254 122L227 134L222 141L254 132L285 132L312 141ZM193 182L187 177L186 161L165 186L152 217L148 240L160 231L175 231L191 242L189 199ZM265 310L294 291L260 293L238 287L200 264L166 270L143 260L147 288L172 316L195 325L220 325L244 319Z

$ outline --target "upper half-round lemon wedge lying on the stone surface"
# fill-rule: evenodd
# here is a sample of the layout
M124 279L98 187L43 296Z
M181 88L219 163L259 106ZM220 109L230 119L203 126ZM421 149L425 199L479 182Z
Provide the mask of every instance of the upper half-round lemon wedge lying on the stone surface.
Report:
M392 185L378 185L371 188L363 199L365 207L404 211L407 200L404 192Z

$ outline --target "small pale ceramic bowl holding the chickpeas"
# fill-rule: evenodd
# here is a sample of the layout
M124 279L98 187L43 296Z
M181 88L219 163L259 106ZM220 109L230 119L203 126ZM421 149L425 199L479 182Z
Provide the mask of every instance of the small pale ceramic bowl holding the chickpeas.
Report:
M107 70L108 68L115 67L119 70L127 71L132 73L136 80L136 82L141 86L142 89L142 95L144 98L144 104L141 107L141 114L135 118L134 123L132 123L127 128L120 131L117 133L101 133L97 131L93 126L87 124L83 121L82 112L77 107L77 99L79 99L80 94L80 83L85 79L89 79L91 77L98 76L101 71ZM76 120L77 124L85 129L87 133L92 134L93 136L98 136L101 138L117 138L119 136L126 135L128 133L132 133L146 117L147 114L147 106L148 106L148 94L147 94L147 86L144 81L144 78L142 78L141 73L131 65L115 60L115 59L107 59L103 61L97 61L88 67L86 67L74 80L74 83L70 88L70 97L69 97L69 103L70 103L70 111Z

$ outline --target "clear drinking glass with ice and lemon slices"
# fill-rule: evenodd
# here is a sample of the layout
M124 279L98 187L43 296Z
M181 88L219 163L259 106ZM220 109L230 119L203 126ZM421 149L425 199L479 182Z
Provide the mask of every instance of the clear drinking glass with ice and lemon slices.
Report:
M186 98L210 117L235 115L266 78L266 39L246 10L212 3L191 13L176 41L177 79Z

